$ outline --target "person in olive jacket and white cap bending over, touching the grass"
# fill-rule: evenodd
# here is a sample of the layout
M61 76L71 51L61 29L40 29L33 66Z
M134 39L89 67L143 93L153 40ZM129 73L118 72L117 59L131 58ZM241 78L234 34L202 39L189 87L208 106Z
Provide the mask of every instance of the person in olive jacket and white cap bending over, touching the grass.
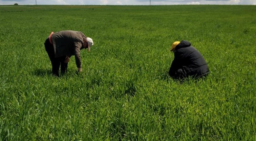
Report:
M78 72L82 71L80 50L87 48L90 51L93 41L80 31L66 30L51 32L44 46L51 61L52 74L59 76L60 67L61 73L67 71L69 58L72 55L75 56Z

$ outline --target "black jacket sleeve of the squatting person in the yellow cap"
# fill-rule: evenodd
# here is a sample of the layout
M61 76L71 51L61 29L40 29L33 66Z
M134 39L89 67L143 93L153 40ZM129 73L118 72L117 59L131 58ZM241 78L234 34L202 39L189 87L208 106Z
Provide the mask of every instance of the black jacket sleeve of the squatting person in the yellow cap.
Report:
M169 75L172 78L179 78L180 77L180 68L182 68L182 66L180 66L180 63L183 59L183 54L176 51L174 52L174 59L172 61L171 67L169 69Z

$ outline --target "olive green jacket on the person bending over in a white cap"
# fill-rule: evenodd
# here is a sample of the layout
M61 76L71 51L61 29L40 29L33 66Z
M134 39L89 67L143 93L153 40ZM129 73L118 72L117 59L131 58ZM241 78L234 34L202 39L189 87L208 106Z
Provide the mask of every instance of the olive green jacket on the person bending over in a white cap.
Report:
M52 34L55 57L75 56L77 67L81 67L80 50L86 36L80 31L59 31Z

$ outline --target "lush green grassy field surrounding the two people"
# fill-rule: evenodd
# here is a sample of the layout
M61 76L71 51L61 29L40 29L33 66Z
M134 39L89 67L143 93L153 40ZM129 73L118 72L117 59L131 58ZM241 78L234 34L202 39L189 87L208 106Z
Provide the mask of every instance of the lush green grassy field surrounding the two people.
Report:
M0 140L255 140L256 6L0 7ZM51 31L94 40L60 78ZM176 40L211 73L168 76Z

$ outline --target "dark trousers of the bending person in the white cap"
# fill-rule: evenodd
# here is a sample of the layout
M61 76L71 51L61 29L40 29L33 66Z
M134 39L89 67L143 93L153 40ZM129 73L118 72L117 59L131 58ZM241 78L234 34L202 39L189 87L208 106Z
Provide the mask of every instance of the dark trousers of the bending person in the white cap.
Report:
M61 56L61 57L55 58L54 47L50 43L49 38L47 38L45 40L44 46L45 46L45 50L51 60L52 74L59 76L60 66L61 66L61 73L64 74L67 71L67 66L68 66L68 63L64 62L66 60L66 56Z

